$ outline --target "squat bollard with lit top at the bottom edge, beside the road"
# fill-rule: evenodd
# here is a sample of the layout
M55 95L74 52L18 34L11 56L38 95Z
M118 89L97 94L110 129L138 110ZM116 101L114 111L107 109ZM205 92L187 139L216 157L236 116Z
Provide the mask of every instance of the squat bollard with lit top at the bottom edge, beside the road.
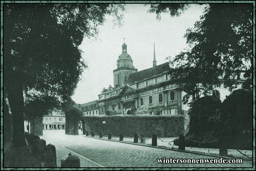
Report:
M80 159L69 153L61 159L60 167L80 167Z

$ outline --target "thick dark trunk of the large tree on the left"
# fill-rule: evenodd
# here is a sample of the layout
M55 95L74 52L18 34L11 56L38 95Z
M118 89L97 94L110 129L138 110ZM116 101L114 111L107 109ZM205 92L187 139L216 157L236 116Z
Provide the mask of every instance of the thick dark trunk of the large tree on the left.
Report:
M8 100L12 111L12 129L13 138L12 145L14 147L26 145L24 136L24 98L23 98L23 86L19 82L12 82L7 87ZM16 83L16 84L15 84Z

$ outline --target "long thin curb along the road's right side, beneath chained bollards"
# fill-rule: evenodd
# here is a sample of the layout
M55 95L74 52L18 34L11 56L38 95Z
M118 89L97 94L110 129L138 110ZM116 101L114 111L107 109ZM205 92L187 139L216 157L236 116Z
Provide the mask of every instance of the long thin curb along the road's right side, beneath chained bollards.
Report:
M117 141L117 140L106 140L106 139L103 139L103 138L89 137L89 136L84 136L84 137L94 138L94 139L98 139L98 140L112 141L112 142L121 142L121 143L130 144L130 145L140 145L140 146L144 146L144 147L151 147L151 148L157 148L157 149L167 149L167 150L171 150L171 151L197 154L197 155L202 155L202 156L217 157L217 158L222 157L223 159L237 159L237 158L232 158L232 157L218 156L218 155L213 155L213 154L205 154L205 153L200 153L200 152L191 152L191 151L183 151L183 150L179 150L179 149L171 149L171 148L167 148L167 147L157 147L157 146L151 146L151 145L144 145L144 144L138 144L138 143L133 143L133 142L125 142L125 141ZM252 159L250 160L250 159L246 159L246 158L242 159L242 160L252 161Z

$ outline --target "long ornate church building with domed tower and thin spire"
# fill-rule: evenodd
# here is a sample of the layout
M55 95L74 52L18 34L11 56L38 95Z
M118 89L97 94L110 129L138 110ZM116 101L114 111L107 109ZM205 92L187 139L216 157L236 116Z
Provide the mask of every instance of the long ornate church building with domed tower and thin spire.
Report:
M183 94L178 89L178 82L171 79L168 69L169 63L157 65L154 43L152 67L138 71L133 66L126 43L123 43L117 68L113 70L114 86L103 88L97 101L82 104L84 116L92 115L90 109L97 110L99 115L129 115L143 107L150 115L184 115L186 130L189 119L182 104Z

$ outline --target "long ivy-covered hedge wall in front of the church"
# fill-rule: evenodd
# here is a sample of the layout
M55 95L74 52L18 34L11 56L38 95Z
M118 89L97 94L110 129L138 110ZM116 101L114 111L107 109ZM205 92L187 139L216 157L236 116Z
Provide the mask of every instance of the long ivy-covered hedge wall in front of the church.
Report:
M133 137L137 132L141 137L177 137L184 133L183 116L83 116L86 130L104 135L112 133ZM105 121L106 123L103 123Z

